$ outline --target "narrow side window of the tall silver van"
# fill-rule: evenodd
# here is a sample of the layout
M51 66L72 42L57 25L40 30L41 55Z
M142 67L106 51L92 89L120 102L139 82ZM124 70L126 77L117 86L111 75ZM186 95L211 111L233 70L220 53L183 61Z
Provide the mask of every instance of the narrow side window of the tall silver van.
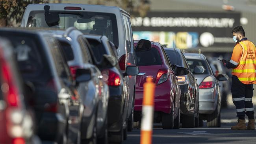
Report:
M125 44L127 52L133 53L133 44L132 42L132 36L131 36L131 27L130 27L130 18L126 15L123 15L124 20L124 30L125 30Z

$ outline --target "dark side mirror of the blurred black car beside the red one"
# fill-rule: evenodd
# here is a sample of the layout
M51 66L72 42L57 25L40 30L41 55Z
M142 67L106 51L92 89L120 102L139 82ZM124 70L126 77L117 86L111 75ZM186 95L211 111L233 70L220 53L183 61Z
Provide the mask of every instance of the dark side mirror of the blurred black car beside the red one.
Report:
M90 69L77 69L76 70L76 83L86 82L91 80Z

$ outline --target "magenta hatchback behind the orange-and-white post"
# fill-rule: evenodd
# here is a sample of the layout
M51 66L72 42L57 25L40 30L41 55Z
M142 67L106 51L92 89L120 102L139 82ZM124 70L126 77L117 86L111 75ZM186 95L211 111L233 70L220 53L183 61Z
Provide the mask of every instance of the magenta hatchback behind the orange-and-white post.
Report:
M135 50L135 61L140 72L135 85L134 122L141 120L143 84L149 77L156 84L154 122L162 122L164 129L178 129L180 127L181 92L176 79L178 74L175 72L180 72L180 70L187 72L187 69L179 67L174 70L159 42L151 42L150 50L139 50L140 42L142 41L134 41L135 46L138 44ZM145 45L145 42L141 45Z

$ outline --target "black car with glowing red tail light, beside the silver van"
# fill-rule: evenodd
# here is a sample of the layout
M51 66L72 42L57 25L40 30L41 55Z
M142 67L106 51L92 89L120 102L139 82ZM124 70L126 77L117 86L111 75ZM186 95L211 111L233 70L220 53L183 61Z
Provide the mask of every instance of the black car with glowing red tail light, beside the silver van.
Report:
M132 76L139 73L136 66L127 66L126 73L122 74L117 65L117 53L113 51L106 36L84 35L91 47L92 55L95 55L97 63L104 61L104 57L113 64L111 68L100 68L104 81L109 87L108 104L108 131L109 142L121 143L127 137L128 122L128 84L124 76Z

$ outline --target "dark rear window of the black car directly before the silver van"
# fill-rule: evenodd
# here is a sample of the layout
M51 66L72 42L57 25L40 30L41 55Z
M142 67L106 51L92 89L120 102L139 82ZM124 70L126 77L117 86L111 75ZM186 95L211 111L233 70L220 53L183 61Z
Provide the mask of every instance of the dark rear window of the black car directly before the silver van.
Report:
M100 62L102 59L102 55L106 54L106 50L103 44L94 39L87 39L87 40L91 45L91 50L93 51L93 55L95 56L96 60Z

